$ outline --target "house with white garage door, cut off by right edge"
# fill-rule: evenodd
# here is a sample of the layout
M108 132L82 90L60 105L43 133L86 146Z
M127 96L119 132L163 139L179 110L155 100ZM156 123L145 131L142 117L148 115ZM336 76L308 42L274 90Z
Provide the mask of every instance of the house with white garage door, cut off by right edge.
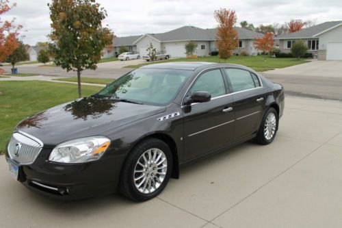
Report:
M296 40L304 40L318 60L342 60L342 21L328 21L275 38L281 52L289 53Z

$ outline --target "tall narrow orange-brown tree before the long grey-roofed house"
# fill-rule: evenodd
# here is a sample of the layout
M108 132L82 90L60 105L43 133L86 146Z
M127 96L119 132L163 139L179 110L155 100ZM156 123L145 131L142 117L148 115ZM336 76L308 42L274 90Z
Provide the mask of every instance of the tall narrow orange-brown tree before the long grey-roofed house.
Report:
M219 50L219 56L223 60L227 60L233 54L239 42L235 23L237 18L234 10L220 9L214 13L216 21L218 21L218 29L216 31L216 46Z

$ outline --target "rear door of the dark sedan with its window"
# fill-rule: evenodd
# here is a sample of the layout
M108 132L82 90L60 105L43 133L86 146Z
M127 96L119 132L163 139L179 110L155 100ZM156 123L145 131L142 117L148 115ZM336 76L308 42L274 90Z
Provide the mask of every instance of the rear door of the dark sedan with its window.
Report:
M233 140L243 140L259 128L266 99L266 89L257 75L241 68L225 68L234 99Z

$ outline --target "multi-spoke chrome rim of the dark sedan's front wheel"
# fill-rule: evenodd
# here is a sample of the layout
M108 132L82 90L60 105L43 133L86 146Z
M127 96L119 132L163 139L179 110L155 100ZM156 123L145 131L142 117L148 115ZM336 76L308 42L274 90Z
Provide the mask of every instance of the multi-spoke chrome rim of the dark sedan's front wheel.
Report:
M168 160L160 149L145 151L135 164L133 179L135 188L144 194L154 192L161 186L168 170Z

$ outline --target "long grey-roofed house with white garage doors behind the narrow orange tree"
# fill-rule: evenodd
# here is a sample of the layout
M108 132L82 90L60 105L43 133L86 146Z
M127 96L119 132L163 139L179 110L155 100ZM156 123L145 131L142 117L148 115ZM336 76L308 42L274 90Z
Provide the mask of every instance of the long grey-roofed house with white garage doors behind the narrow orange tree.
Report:
M239 54L245 51L248 55L256 55L257 50L254 49L254 38L262 37L259 34L249 29L235 27L239 34L239 46L235 53ZM140 55L147 55L147 47L150 43L157 51L163 51L170 54L174 58L186 57L185 44L189 41L197 42L196 55L207 56L216 49L216 29L201 29L194 26L184 26L171 31L166 31L160 34L143 34L140 36L126 36L114 38L115 52L120 53L120 47L124 46Z

